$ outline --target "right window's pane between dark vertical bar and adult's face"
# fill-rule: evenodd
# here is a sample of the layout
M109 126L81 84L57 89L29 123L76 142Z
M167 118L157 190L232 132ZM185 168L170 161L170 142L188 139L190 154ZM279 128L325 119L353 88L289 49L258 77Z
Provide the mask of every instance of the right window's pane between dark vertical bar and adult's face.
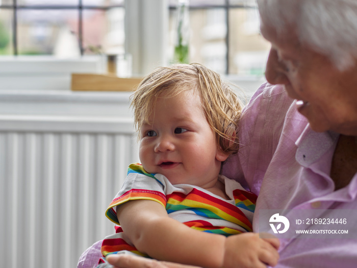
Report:
M270 48L259 31L257 9L230 10L230 74L262 76Z

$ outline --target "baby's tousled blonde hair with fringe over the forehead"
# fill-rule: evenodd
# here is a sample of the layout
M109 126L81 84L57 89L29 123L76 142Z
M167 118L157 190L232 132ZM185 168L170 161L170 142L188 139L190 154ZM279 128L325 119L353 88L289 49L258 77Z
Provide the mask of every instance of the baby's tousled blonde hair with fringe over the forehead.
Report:
M131 96L136 130L147 121L159 96L170 98L185 90L198 91L220 150L225 154L237 153L241 102L216 72L196 63L159 67L141 81Z

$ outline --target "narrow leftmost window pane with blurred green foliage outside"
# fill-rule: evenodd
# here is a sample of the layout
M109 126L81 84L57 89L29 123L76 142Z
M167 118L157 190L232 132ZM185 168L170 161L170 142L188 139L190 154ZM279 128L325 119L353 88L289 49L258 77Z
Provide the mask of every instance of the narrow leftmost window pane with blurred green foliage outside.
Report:
M13 54L12 18L11 10L0 10L0 55Z

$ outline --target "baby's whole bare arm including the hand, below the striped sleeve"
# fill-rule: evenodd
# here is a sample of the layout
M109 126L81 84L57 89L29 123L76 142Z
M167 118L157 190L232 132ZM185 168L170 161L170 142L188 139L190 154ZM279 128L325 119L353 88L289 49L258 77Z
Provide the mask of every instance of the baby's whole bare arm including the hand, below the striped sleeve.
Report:
M265 267L263 263L277 262L274 247L257 234L226 238L200 232L170 218L155 201L124 203L117 208L117 215L135 247L152 258L207 268ZM249 266L252 264L257 265Z

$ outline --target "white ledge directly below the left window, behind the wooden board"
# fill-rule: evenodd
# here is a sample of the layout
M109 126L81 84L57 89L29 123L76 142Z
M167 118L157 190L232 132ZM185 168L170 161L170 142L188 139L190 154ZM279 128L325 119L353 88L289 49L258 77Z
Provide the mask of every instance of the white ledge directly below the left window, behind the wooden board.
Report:
M100 74L104 59L86 56L0 56L0 90L70 90L72 73Z

